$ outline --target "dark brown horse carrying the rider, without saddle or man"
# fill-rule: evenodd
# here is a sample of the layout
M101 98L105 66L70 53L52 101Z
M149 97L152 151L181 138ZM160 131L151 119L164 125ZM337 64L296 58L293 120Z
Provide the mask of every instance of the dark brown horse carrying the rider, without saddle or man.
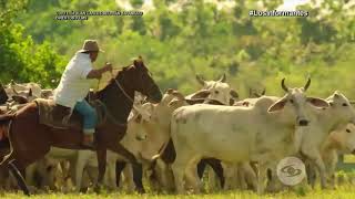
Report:
M119 143L125 135L134 91L146 95L148 100L154 103L159 103L162 98L161 91L141 60L135 60L133 65L123 67L103 90L97 93L97 97L106 106L109 115L105 123L97 127L95 133L99 163L98 185L103 181L106 149L122 155L130 163L139 166L135 157ZM11 153L4 157L0 166L10 166L12 172L13 167L17 167L23 174L24 168L42 158L51 146L83 149L81 130L55 129L39 124L39 109L36 103L29 103L13 115L0 115L0 125L7 123L11 123L9 128ZM28 193L23 179L21 177L17 179L21 189Z

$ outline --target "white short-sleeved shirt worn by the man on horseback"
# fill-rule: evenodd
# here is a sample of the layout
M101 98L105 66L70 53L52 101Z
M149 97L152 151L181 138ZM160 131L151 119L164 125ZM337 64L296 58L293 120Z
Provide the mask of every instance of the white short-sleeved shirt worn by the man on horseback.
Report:
M91 81L87 78L92 70L89 54L78 52L68 63L60 83L54 91L54 102L73 108L90 91Z

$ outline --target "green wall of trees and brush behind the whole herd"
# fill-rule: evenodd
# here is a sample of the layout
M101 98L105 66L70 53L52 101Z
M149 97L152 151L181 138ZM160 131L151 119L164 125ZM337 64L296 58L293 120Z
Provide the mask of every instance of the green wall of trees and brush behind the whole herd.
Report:
M248 88L282 94L280 81L302 86L312 77L310 93L327 96L339 90L355 97L355 18L347 1L324 0L306 18L252 18L250 10L273 10L282 1L235 0L219 9L203 0L153 0L154 10L139 17L99 15L83 21L54 20L58 11L124 11L112 0L0 1L0 80L39 82L55 87L67 62L84 39L97 39L105 53L95 66L116 67L142 55L162 90L183 93L205 78L227 75L246 96ZM179 2L179 9L172 9ZM142 0L131 0L141 10ZM352 15L353 14L353 15ZM106 78L109 75L106 75ZM102 83L101 86L103 86Z

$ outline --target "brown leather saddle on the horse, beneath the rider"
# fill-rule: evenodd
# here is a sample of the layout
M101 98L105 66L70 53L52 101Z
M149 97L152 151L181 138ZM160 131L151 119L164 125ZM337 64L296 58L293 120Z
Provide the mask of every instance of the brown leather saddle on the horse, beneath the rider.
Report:
M68 129L74 128L82 130L82 116L71 108L55 104L53 100L34 100L39 109L39 123L52 128ZM105 105L101 101L92 101L90 105L97 109L98 124L102 125L106 119Z

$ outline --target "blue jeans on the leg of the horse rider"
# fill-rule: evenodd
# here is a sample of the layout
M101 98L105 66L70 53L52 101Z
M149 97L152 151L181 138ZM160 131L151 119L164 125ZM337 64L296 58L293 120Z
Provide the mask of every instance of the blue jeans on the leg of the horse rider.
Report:
M74 109L83 116L83 132L84 134L95 133L98 124L98 113L85 100L77 102Z

